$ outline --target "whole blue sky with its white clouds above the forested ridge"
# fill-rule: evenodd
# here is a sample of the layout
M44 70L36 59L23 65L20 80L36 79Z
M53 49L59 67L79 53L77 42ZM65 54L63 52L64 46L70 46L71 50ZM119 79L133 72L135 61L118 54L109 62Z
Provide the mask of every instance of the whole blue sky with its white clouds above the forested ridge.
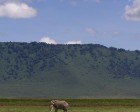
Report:
M140 50L140 0L0 0L0 42Z

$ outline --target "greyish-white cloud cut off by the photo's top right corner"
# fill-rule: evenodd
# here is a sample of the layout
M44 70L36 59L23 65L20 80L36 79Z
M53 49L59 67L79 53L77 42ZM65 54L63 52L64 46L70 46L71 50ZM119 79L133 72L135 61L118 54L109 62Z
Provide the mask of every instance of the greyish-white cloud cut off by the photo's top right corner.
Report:
M140 0L133 0L132 5L125 7L124 17L126 20L140 21Z

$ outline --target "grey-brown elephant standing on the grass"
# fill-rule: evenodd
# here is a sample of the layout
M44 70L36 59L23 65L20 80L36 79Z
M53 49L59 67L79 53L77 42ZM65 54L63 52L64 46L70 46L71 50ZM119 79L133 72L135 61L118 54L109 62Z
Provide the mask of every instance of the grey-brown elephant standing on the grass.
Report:
M52 100L50 103L50 112L53 111L53 107L55 108L55 112L57 112L58 109L61 109L64 112L68 111L69 104L64 100Z

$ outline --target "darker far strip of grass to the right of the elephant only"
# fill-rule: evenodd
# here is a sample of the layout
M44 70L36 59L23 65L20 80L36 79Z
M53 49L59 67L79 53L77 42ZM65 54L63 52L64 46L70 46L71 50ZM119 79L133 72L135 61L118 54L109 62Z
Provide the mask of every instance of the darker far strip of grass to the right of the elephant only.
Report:
M72 105L140 106L140 99L67 99Z

